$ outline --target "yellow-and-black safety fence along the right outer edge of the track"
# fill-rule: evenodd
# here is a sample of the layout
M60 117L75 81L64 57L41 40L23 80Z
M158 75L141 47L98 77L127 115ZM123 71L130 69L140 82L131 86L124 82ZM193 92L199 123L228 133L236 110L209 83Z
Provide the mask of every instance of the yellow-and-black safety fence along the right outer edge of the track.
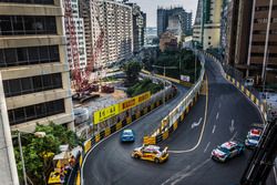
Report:
M266 104L259 100L257 96L257 93L252 92L247 86L244 85L242 81L239 81L237 78L232 76L232 74L228 73L228 71L224 70L220 61L212 55L211 53L204 53L207 58L214 60L223 74L223 76L229 81L234 86L236 86L242 93L244 93L260 111L265 121L267 121L267 109Z

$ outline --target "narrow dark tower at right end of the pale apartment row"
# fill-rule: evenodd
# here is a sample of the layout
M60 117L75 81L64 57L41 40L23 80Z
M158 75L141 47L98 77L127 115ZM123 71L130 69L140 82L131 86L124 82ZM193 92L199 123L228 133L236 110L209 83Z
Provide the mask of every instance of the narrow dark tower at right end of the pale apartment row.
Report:
M126 3L132 7L133 12L133 49L134 53L143 49L146 29L146 13L141 11L136 3Z

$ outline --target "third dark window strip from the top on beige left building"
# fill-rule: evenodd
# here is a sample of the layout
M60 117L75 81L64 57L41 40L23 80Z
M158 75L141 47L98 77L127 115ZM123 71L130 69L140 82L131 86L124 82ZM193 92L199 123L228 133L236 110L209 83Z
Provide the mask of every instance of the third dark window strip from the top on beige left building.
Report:
M0 68L59 62L59 47L0 49Z

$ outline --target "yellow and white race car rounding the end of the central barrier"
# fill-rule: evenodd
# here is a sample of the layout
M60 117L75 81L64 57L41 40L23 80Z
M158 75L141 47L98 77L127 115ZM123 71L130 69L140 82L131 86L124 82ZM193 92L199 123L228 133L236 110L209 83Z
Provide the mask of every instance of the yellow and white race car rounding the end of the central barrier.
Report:
M156 145L143 145L134 148L132 157L152 161L155 163L163 163L168 158L167 147L161 148Z

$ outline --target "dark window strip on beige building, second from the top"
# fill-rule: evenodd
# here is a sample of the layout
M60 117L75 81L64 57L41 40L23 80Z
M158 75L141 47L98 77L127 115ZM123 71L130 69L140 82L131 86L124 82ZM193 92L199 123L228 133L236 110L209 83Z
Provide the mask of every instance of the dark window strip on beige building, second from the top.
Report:
M55 34L54 17L0 16L0 35Z

